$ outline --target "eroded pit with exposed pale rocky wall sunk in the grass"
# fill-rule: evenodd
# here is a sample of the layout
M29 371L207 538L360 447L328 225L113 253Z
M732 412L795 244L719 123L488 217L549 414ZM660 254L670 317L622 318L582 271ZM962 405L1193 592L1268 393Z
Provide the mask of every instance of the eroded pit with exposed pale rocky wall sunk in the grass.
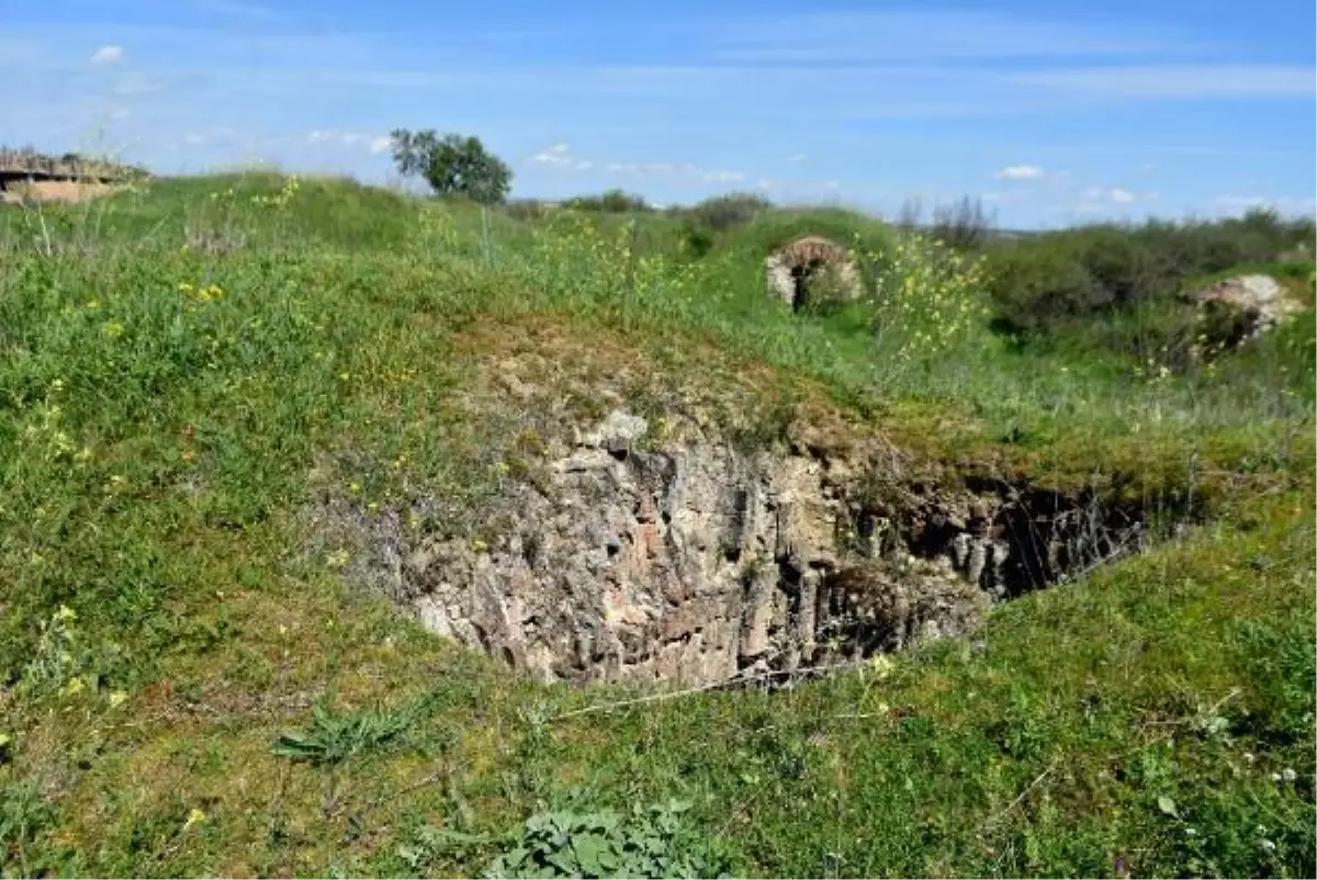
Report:
M547 680L790 680L971 634L994 602L1148 540L1098 489L915 480L880 461L711 440L641 448L614 412L490 540L370 520L358 574L431 631ZM493 512L493 509L491 509Z

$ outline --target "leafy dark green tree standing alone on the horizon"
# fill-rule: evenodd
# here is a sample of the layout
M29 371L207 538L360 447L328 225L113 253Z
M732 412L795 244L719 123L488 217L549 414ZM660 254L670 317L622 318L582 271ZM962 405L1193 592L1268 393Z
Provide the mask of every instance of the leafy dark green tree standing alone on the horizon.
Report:
M497 204L512 188L512 169L486 150L478 137L404 128L395 129L391 136L398 171L424 178L437 195Z

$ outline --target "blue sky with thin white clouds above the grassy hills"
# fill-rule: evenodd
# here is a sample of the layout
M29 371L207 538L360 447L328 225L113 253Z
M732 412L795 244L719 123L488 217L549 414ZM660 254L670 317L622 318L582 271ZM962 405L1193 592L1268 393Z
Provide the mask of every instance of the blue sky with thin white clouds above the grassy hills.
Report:
M1317 212L1317 4L0 0L0 140L391 178L481 136L516 195L727 190L1002 223Z

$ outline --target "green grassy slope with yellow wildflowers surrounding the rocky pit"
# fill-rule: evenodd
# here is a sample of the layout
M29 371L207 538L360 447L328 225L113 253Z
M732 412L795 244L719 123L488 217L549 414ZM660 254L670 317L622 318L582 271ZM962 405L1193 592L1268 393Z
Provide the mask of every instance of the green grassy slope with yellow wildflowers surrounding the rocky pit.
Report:
M1317 862L1310 316L1214 375L982 333L910 360L765 304L748 245L636 265L595 225L266 178L0 212L7 869L468 876L487 852L419 830L673 794L756 876ZM1004 609L977 646L564 718L612 694L437 643L299 537L321 486L366 510L424 486L460 520L510 452L482 389L520 357L586 398L710 389L715 416L720 387L827 394L927 454L1056 481L1183 482L1196 452L1222 519ZM374 719L337 734L356 751L273 755L320 700Z

